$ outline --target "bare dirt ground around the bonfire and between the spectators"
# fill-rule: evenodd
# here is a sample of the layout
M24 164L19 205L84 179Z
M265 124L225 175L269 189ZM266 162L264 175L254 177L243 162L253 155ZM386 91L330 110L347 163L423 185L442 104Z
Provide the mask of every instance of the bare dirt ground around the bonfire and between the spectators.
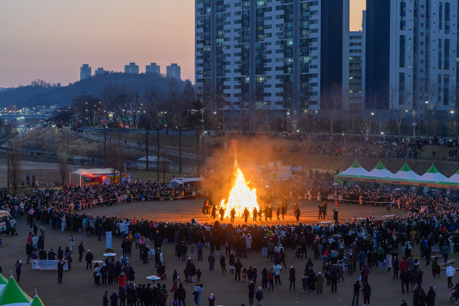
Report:
M317 222L317 202L299 202L301 209L302 222ZM183 201L145 201L135 202L131 204L116 204L112 207L94 208L92 210L82 211L82 213L90 213L91 215L122 215L126 217L144 217L153 218L153 220L176 220L176 221L189 221L192 217L196 217L199 222L213 222L211 218L204 217L201 213L202 200L183 200ZM329 206L329 215L326 220L331 220L331 209L335 206ZM353 215L357 217L366 217L369 211L373 211L376 217L386 215L384 208L358 206L351 204L343 204L338 207L339 219L344 221L350 219ZM400 211L398 211L400 213ZM393 213L393 211L391 211ZM269 224L287 224L293 220L292 210L289 209L287 219L280 222L269 222ZM243 220L242 220L243 221ZM227 222L227 220L224 220ZM241 220L237 220L241 223ZM250 222L251 223L251 222ZM261 224L262 222L257 222ZM263 224L266 222L263 221ZM26 291L29 296L35 295L35 289L40 296L45 306L57 305L81 305L80 300L84 297L85 305L101 305L102 298L105 290L109 294L113 290L118 289L117 286L95 286L93 284L92 271L85 270L86 264L78 262L77 252L73 253L73 264L70 272L64 271L63 284L57 284L57 271L55 270L32 270L31 265L26 265L25 245L27 243L27 234L29 234L29 227L26 220L18 220L19 236L6 237L1 236L3 245L0 246L0 266L3 266L3 275L10 276L10 271L15 275L14 264L15 261L20 259L24 263L22 267L22 275L20 280L21 288ZM65 248L68 246L70 232L68 231L53 231L48 227L47 235L45 238L45 250L49 251L50 248L57 250L61 246ZM75 234L75 243L78 245L84 242L84 246L93 252L95 260L102 260L105 249L105 241L98 241L95 236L87 237L82 233ZM121 254L121 239L114 238L114 252ZM167 279L160 281L160 284L166 284L167 289L172 288L172 271L176 269L179 271L181 280L183 277L183 269L185 264L177 260L174 256L174 244L168 243L163 245L164 258L166 263ZM294 266L296 268L296 290L289 291L288 286L288 269L283 267L280 273L280 279L283 286L275 286L274 291L264 291L264 300L262 305L295 305L296 303L311 303L311 305L350 305L352 301L352 285L359 279L359 275L347 277L345 273L345 282L338 283L338 293L331 293L329 286L324 286L322 294L317 293L302 293L301 292L301 275L306 259L294 258L294 250L286 250L287 267ZM419 256L419 248L416 247L414 251L415 256ZM248 289L247 283L235 282L233 275L229 273L222 275L220 273L220 266L216 264L215 272L209 272L206 258L209 255L209 250L204 249L204 261L195 261L197 268L202 270L201 282L204 284L204 295L202 298L203 305L207 305L206 298L213 293L216 296L216 305L241 305L245 303L248 305ZM308 250L308 256L312 252ZM130 264L135 269L135 283L148 283L146 277L155 274L154 265L151 263L143 264L138 259L138 252L133 250L133 258L129 259ZM450 256L450 259L458 259L457 254ZM218 262L218 261L217 261ZM266 259L255 252L248 254L248 258L241 259L244 267L256 266L261 270L266 267L269 268L272 262L266 262ZM315 271L322 270L322 260L313 260ZM430 267L423 265L421 261L421 268L424 270L423 287L428 289L429 286L435 286L437 291L437 305L449 305L449 289L446 288L446 277L442 271L442 277L432 278ZM456 265L459 266L459 263ZM370 271L369 283L373 289L373 296L371 297L371 305L400 305L400 298L405 298L407 303L412 303L412 296L409 294L402 294L400 290L400 282L393 281L391 273L379 273L373 269ZM457 277L453 277L453 282L456 283ZM193 304L193 288L195 284L183 282L186 289L186 303ZM257 286L261 285L261 275L259 276ZM83 294L82 294L83 293ZM167 304L172 301L172 294L167 299ZM361 303L361 302L360 302Z

